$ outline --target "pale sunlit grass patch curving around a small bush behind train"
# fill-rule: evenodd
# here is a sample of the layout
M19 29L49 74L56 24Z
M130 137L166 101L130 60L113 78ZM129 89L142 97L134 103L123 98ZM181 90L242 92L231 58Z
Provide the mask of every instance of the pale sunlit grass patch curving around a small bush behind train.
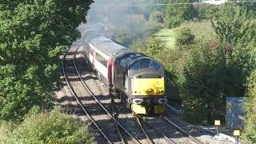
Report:
M216 37L214 33L214 28L211 26L209 21L206 22L184 22L181 26L178 26L173 29L164 28L159 30L155 36L162 39L166 43L166 46L170 49L175 48L175 31L182 29L184 27L189 27L192 31L192 34L195 35L195 42L207 42L210 39Z

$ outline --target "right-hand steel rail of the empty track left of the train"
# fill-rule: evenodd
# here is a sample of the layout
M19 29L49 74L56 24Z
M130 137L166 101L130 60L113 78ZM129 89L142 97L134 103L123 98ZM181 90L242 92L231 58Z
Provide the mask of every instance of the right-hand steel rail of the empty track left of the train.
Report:
M76 53L75 53L75 54L76 54ZM133 139L133 141L134 141L135 143L141 144L141 142L139 142L136 138L134 138L134 136L133 136L132 134L130 134L130 133L121 125L121 123L118 122L118 121L114 118L114 116L113 116L112 114L110 114L110 112L109 112L108 110L106 110L105 106L102 105L102 102L99 102L99 101L98 101L98 98L95 97L94 93L90 90L90 87L86 84L86 82L84 82L84 80L83 80L81 74L79 73L78 68L77 68L77 65L76 65L75 57L74 57L73 60L74 60L74 69L76 70L76 72L77 72L77 74L78 74L78 77L80 78L80 80L81 80L81 82L82 82L82 86L84 86L84 87L86 88L86 90L90 93L90 96L92 96L92 97L94 98L94 100L95 100L96 102L98 102L98 104L99 104L100 106L102 106L102 110L105 110L106 113L109 115L109 117L112 118L112 119L118 124L118 126L119 126L126 134L128 134L128 135L130 136L130 138Z

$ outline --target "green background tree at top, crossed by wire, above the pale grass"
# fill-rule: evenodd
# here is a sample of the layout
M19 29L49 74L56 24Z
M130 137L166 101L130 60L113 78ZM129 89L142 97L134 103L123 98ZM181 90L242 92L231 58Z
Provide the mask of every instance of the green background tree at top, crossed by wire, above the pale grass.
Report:
M191 0L166 0L166 3L187 3ZM169 5L165 7L165 23L171 28L179 26L182 22L194 18L193 5Z

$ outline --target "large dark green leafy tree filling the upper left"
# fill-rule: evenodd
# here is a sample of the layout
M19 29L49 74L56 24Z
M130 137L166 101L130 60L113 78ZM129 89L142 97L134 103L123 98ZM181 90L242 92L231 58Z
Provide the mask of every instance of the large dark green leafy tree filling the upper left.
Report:
M46 107L58 90L58 55L79 37L92 0L0 3L0 118L21 119Z

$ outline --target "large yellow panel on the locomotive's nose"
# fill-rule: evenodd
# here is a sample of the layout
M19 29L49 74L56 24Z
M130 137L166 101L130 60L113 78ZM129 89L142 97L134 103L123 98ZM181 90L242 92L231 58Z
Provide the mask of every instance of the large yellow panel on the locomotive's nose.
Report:
M133 78L131 79L133 95L163 95L165 94L164 78Z

